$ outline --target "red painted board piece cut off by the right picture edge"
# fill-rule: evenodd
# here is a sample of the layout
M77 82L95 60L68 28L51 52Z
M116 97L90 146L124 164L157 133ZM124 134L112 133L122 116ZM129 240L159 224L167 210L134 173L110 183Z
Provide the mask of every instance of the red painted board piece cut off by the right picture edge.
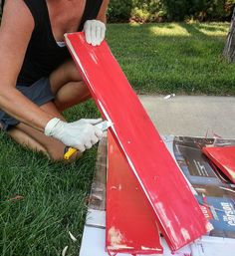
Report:
M203 153L235 183L235 146L207 146Z

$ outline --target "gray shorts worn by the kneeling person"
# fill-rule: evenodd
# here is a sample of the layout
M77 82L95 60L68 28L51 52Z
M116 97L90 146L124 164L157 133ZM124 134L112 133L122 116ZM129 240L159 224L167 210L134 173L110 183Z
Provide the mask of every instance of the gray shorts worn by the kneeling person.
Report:
M55 99L54 95L52 94L51 85L48 78L42 78L31 86L17 84L16 88L38 106L44 105ZM0 124L4 130L14 128L19 123L19 121L0 110Z

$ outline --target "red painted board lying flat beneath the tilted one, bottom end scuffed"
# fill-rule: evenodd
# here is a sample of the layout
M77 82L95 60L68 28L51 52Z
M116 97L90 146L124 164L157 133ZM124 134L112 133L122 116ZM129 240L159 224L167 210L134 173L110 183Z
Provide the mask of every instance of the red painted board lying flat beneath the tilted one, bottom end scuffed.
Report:
M107 233L109 252L162 253L155 215L120 152L108 133Z

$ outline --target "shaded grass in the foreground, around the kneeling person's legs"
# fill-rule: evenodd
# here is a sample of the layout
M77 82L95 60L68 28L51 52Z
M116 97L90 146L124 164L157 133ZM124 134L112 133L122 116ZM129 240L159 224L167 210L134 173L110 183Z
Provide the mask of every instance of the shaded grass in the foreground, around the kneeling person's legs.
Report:
M66 112L69 120L94 118L90 101ZM0 255L79 255L97 148L72 164L52 162L0 132ZM12 201L17 195L23 199ZM74 243L69 231L79 241Z

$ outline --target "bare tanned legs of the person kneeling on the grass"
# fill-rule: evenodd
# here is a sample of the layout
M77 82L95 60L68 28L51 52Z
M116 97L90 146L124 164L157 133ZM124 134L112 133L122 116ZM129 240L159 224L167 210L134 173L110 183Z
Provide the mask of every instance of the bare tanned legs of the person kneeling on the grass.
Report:
M61 120L60 112L90 98L90 93L77 71L72 60L66 62L55 70L50 76L52 93L56 99L54 103L47 103L40 108ZM63 159L65 145L42 132L19 124L9 131L9 134L19 143L32 149L47 153L52 159ZM76 157L76 154L74 155Z

